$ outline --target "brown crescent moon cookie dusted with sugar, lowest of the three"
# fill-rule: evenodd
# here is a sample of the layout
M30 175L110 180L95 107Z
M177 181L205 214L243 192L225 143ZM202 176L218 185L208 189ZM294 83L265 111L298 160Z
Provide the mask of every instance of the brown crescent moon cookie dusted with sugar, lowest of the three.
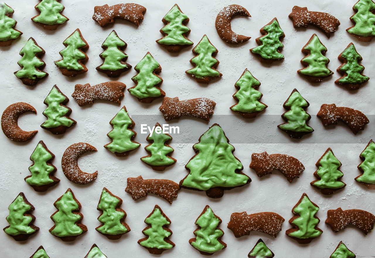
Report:
M66 178L80 185L88 184L96 179L98 176L98 171L94 173L86 173L78 167L78 158L82 154L91 151L98 150L96 150L96 148L90 144L84 142L72 144L65 150L61 159L61 167Z

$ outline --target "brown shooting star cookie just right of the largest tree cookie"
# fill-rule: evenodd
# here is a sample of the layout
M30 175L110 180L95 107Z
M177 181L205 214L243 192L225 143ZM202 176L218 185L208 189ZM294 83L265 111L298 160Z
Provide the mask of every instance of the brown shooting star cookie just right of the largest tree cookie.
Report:
M299 178L300 173L305 170L302 163L295 157L285 154L269 155L266 151L251 154L250 168L254 169L259 177L272 174L273 170L278 170L289 182Z

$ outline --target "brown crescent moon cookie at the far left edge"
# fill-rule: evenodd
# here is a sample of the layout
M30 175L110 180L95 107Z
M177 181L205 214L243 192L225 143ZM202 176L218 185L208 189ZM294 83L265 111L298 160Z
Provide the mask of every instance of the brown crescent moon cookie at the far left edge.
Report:
M18 126L18 117L26 112L36 114L35 108L30 104L17 102L7 107L1 116L1 129L3 129L5 136L12 141L26 142L38 132L37 130L27 132Z

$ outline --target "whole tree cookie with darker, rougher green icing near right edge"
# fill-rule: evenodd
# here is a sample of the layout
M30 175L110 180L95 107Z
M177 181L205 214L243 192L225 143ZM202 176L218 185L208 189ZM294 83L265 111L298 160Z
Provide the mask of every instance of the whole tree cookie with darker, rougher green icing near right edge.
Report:
M342 74L342 77L335 81L336 84L345 86L348 90L356 90L369 80L369 77L362 74L365 70L365 67L359 64L362 56L359 55L353 43L350 43L339 55L339 60L343 64L337 68L337 71Z

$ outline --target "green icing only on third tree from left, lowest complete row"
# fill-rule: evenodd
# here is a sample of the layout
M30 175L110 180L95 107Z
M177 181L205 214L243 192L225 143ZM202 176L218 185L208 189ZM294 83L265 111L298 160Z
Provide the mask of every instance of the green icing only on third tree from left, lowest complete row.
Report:
M103 225L96 228L100 233L108 235L124 234L128 230L121 224L121 219L125 216L124 212L118 211L120 200L112 196L108 191L103 189L98 208L103 211L98 220Z

